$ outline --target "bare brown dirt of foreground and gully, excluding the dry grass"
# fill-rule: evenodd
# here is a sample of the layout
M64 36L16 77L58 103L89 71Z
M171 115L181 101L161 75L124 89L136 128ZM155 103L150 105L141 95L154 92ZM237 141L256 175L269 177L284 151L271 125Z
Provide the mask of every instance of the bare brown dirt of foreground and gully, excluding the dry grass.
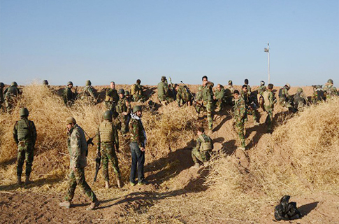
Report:
M127 89L127 85L117 85L117 89L120 87ZM189 87L192 92L196 92L196 85ZM293 94L296 88L292 87L290 92ZM96 89L103 93L103 87ZM150 89L156 91L155 87ZM308 96L312 94L312 87L303 89ZM275 90L278 90L278 87ZM153 94L151 99L155 101L156 94ZM278 121L285 116L286 111L276 106L275 119ZM214 151L232 155L243 167L247 167L250 163L247 153L256 150L257 146L263 148L270 135L265 134L265 119L266 115L262 111L261 125L254 126L252 118L249 118L246 124L249 150L244 153L237 150L238 137L233 130L230 113L226 111L215 116L214 132L210 135L214 141ZM64 185L64 179L37 179L26 188L19 188L15 183L0 186L0 220L2 223L275 223L273 211L280 198L261 207L259 221L225 218L225 211L218 207L218 204L211 208L199 207L200 200L205 199L201 196L208 194L210 190L208 186L203 185L208 175L208 167L192 167L192 146L194 141L189 141L187 146L172 148L166 156L152 162L147 162L146 155L146 186L131 187L126 182L122 189L113 187L106 190L103 186L93 185L89 181L89 185L101 200L99 208L94 211L85 210L89 202L78 189L71 209L59 207L64 194L55 190L54 186ZM1 165L1 169L14 164L15 160L8 161ZM46 187L42 189L41 186ZM291 201L297 202L304 216L295 221L279 223L339 223L338 195L301 193L291 196ZM185 206L178 208L178 204Z

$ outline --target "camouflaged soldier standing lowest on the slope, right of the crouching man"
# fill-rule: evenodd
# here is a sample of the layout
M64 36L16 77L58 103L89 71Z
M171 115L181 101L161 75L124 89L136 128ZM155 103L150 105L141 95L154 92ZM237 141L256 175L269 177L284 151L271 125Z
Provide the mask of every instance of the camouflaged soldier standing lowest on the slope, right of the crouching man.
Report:
M234 90L234 120L236 121L236 129L238 132L238 136L240 139L241 147L243 151L245 151L245 134L244 134L244 125L245 119L247 118L247 106L245 103L245 99L239 95L238 90Z

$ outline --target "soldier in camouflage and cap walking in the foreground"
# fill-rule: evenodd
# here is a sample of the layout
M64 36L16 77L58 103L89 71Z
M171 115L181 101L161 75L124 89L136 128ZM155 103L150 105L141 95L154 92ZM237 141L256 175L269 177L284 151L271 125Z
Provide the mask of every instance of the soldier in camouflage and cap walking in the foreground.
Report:
M77 125L73 117L66 120L67 124L67 146L70 155L68 186L65 201L59 204L60 207L71 207L76 186L80 186L82 193L92 201L87 210L93 210L99 206L100 202L96 195L88 186L85 180L85 167L87 166L87 143L84 131Z

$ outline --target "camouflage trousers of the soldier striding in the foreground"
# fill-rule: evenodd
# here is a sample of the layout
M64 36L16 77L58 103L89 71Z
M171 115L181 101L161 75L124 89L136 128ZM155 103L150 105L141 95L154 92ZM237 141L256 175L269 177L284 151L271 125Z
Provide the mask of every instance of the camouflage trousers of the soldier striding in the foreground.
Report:
M69 171L66 201L71 202L77 185L82 190L82 193L87 195L92 202L96 202L96 196L85 180L85 168L78 167L75 168L75 171L73 169Z

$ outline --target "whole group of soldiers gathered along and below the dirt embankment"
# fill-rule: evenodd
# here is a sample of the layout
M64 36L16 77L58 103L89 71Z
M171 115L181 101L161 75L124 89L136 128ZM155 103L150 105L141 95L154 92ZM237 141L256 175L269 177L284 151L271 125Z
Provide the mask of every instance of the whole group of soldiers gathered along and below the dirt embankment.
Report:
M171 82L171 78L170 78ZM161 104L168 104L176 100L178 106L194 106L197 113L206 111L208 120L208 129L212 130L213 114L215 109L223 111L225 106L231 106L235 127L240 139L240 149L245 150L245 123L247 115L252 115L254 125L259 125L257 121L257 109L261 107L267 113L266 125L268 132L272 132L273 128L273 109L277 102L273 93L273 84L265 86L264 81L257 90L257 94L252 92L248 80L245 79L245 84L241 90L236 90L233 83L229 80L229 85L223 87L218 84L213 90L214 83L208 81L207 76L203 76L202 85L199 86L198 92L194 95L189 90L187 85L178 85L167 83L166 77L161 77L161 82L158 87L158 99ZM68 82L62 95L66 106L72 106L76 99L88 100L90 104L98 103L96 98L96 90L91 85L91 81L86 81L86 86L77 93L76 89L73 92L73 83ZM48 86L48 81L44 80L43 85ZM17 88L17 83L13 82L5 91L3 91L3 83L1 87L1 106L6 103L6 111L10 113L15 103L15 97L21 94L21 90ZM338 95L336 87L333 86L333 80L329 79L324 88L321 85L315 87L314 93L309 100L303 90L299 87L296 94L289 94L290 85L286 84L279 90L279 103L281 106L287 107L289 111L302 111L304 106L312 102L317 104L319 101L329 99ZM146 133L141 122L142 108L141 106L131 107L131 102L145 102L147 96L146 88L140 85L140 80L131 86L130 92L123 89L116 90L115 83L111 82L110 87L106 89L104 103L107 110L103 113L103 122L99 125L97 141L97 157L96 161L100 162L103 167L103 177L105 179L106 188L110 188L108 163L112 163L113 171L117 176L117 186L122 187L122 179L117 160L119 153L119 135L126 137L127 132L130 133L130 150L131 150L131 173L129 182L131 186L145 184L145 176L143 167L145 164L145 147ZM3 97L3 94L5 97ZM80 96L80 97L79 97ZM3 110L3 109L1 109ZM34 147L36 144L36 127L34 122L28 119L29 111L26 108L20 109L20 120L17 121L13 129L13 138L17 144L17 184L21 185L22 167L26 160L26 172L24 184L29 184L29 176L34 159ZM82 192L87 195L92 201L88 209L95 209L99 205L96 195L85 181L85 167L87 165L88 144L92 143L92 139L86 141L85 132L76 123L75 118L69 117L66 119L67 127L67 146L70 155L70 171L68 174L68 188L64 202L60 206L71 207L76 186L80 186ZM210 153L213 148L212 139L205 134L203 127L196 130L198 139L196 146L192 149L192 160L194 167L200 167L201 163L210 160ZM97 166L98 168L98 166ZM96 175L99 168L96 170ZM138 180L136 181L136 178ZM94 180L96 179L96 176Z

